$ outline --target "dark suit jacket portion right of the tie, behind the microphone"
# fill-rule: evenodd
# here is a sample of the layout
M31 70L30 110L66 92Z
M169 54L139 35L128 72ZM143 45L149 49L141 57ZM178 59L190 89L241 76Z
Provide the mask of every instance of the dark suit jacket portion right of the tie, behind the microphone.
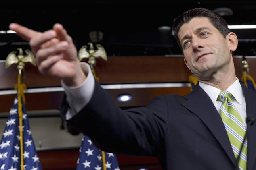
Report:
M246 114L256 117L256 93L241 83L243 95L246 100ZM247 170L252 170L256 160L256 125L250 126L247 136Z

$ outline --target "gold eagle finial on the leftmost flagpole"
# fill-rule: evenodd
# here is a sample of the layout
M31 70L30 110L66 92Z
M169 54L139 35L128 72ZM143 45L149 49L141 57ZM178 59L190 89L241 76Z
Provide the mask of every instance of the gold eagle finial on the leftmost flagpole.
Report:
M5 68L8 68L10 65L14 63L19 63L17 66L18 70L23 70L24 69L24 62L30 62L34 66L36 66L35 63L35 57L33 53L30 50L25 50L26 55L24 56L22 48L17 48L19 50L19 54L16 55L16 51L10 52L10 54L6 58L6 64Z

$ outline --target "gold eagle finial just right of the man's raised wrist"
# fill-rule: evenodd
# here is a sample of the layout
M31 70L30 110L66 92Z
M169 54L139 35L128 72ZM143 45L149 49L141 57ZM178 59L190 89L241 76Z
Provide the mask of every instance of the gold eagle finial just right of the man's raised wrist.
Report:
M97 50L94 50L92 43L88 43L88 45L90 45L89 51L87 50L87 46L82 46L80 48L78 52L79 61L81 61L83 58L89 58L88 63L90 64L92 69L96 66L95 58L101 57L107 61L107 53L103 46L101 46L100 44L96 44Z

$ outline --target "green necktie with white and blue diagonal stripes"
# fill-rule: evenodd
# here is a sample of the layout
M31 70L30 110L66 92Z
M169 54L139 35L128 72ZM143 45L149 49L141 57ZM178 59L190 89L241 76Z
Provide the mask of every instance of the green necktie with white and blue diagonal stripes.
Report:
M235 158L237 158L240 152L241 145L243 143L243 137L246 134L246 127L244 126L241 115L235 108L231 97L232 94L229 93L229 91L223 90L218 95L218 100L223 102L220 106L220 117L223 120L224 126L229 136L229 141L235 154ZM246 161L247 141L245 141L244 143L241 152L241 158L238 163L240 170L246 170Z

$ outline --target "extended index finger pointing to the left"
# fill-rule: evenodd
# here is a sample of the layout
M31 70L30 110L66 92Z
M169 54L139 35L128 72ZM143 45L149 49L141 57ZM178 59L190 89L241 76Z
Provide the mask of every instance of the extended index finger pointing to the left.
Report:
M40 32L34 31L17 23L9 25L10 30L15 31L22 39L29 41L31 38L36 37Z

